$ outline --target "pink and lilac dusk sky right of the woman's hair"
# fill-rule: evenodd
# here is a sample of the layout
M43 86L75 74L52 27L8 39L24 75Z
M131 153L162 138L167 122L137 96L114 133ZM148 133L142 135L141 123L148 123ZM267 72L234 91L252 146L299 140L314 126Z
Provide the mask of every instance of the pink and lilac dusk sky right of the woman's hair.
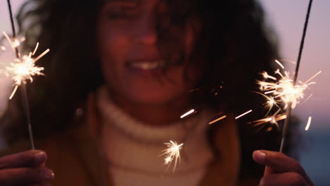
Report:
M308 0L262 0L269 24L276 30L279 37L281 55L283 58L297 61L302 27L305 22ZM293 113L306 120L312 116L310 130L330 131L330 1L313 1L310 22L305 38L304 51L300 62L298 80L308 80L309 77L322 70L311 86L313 94L310 100L300 104ZM288 64L292 66L291 64ZM307 94L307 97L308 95Z

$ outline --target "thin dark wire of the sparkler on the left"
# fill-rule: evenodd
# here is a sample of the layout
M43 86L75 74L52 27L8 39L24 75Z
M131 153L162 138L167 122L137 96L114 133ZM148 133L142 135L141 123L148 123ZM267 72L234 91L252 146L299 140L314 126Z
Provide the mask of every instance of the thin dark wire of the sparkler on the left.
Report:
M11 0L7 0L8 4L8 11L9 11L9 17L11 18L11 30L13 32L13 38L16 38L16 29L15 29L15 23L13 21L13 12L11 11ZM16 58L20 58L20 53L18 51L18 47L15 47L15 54ZM30 109L29 109L29 102L27 101L27 93L26 93L26 87L25 84L23 83L20 85L20 90L22 94L22 101L23 101L23 109L24 109L24 114L25 114L25 120L27 122L27 128L29 130L29 137L30 137L30 144L31 144L31 149L35 149L35 142L33 140L33 133L32 133L32 125L31 125L31 117L30 117Z

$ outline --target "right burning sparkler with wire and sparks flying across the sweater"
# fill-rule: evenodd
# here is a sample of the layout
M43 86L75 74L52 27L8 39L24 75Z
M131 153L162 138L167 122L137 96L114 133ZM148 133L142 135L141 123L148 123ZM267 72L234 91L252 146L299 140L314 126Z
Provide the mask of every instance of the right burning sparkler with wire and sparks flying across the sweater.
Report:
M298 60L297 60L297 65L295 68L294 76L291 77L291 75L290 75L290 73L288 73L288 71L284 71L283 73L281 73L281 70L277 69L275 71L274 75L269 75L269 73L263 72L262 75L264 77L264 80L259 81L260 90L264 93L259 93L259 92L257 92L257 93L261 94L263 97L265 97L265 99L267 99L266 104L264 104L264 106L266 106L266 108L268 109L268 112L266 115L268 115L268 113L271 111L271 109L274 108L274 106L278 107L279 109L272 116L268 116L266 118L262 118L260 120L255 120L255 121L252 121L249 123L249 124L253 124L253 126L261 125L262 127L264 126L264 124L270 123L271 126L269 126L266 129L267 131L270 131L270 130L272 130L273 126L276 126L277 128L279 128L279 123L278 123L279 120L285 120L284 125L283 125L283 130L282 130L282 140L281 140L280 152L283 151L283 144L286 139L286 132L288 130L288 120L290 119L291 109L294 109L295 106L299 103L300 99L304 98L305 89L307 89L309 87L309 85L314 84L314 82L310 82L310 81L314 77L319 75L319 73L321 73L321 71L319 71L318 73L316 73L315 75L310 77L309 80L307 80L305 82L299 82L299 85L296 85L297 77L298 77L298 70L299 70L299 66L300 66L300 59L301 59L301 55L302 55L303 44L305 41L307 23L308 23L308 19L310 16L311 6L312 6L312 0L310 0L310 4L307 9L307 16L305 19L305 26L304 26L304 30L303 30L303 34L302 34L301 43L300 43L300 50L299 50L299 54L298 54ZM284 66L280 63L280 61L276 60L275 62L282 69L284 69ZM279 107L279 104L284 104L283 110L285 110L286 113L279 113L279 112L281 112L281 108ZM188 111L187 113L183 114L181 116L181 118L185 118L186 116L189 116L191 113L194 113L194 112L195 112L195 110L192 109L192 110ZM247 113L250 113L250 112L252 112L252 110L247 111L247 112L241 114L240 116L237 116L236 119L243 117ZM216 120L212 120L211 122L209 122L209 125L211 125L212 123L216 123L217 121L224 119L224 118L226 118L226 116L221 116L220 118L217 118ZM312 118L310 117L305 130L308 130L310 123L311 123L311 119ZM177 163L178 159L180 160L180 149L182 148L183 144L178 145L178 144L176 144L176 142L172 142L172 141L170 141L170 143L165 143L165 144L167 145L168 149L164 150L165 151L164 154L166 154L166 157L164 159L164 164L168 165L173 161L173 159L175 159L175 163L174 163L174 167L173 167L173 171L175 171L176 163ZM164 155L164 154L161 154L161 155Z

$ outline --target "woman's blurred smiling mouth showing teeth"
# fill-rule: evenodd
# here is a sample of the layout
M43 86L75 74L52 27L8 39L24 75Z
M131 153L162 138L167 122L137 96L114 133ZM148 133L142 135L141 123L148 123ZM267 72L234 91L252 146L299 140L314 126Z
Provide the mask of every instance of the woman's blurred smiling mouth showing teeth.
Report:
M164 64L164 60L132 61L127 63L127 67L133 70L156 70L163 68Z

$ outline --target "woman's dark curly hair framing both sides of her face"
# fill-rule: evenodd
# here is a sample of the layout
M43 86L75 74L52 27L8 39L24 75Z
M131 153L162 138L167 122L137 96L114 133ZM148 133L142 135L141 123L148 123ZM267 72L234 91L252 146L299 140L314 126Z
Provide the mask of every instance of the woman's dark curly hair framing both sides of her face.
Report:
M252 93L259 73L273 70L279 58L274 33L264 25L264 13L254 0L161 0L169 11L157 15L159 47L169 54L181 51L182 25L191 16L200 18L202 30L197 37L189 65L203 66L202 80L192 92L194 105L214 110L254 112L238 120L242 151L242 175L260 175L252 163L255 149L279 148L278 131L255 132L247 121L262 117L262 97ZM18 25L26 35L26 49L40 42L39 51L51 52L38 61L46 77L35 77L27 86L35 137L66 130L75 110L84 105L87 95L104 82L99 68L96 26L104 1L29 0L20 8ZM176 60L173 60L176 61ZM199 64L202 61L202 64ZM177 61L176 61L177 62ZM171 65L171 64L169 64ZM8 143L27 138L20 96L8 104L1 119ZM214 126L216 128L216 125ZM210 130L210 137L212 137ZM286 146L286 151L292 149Z

